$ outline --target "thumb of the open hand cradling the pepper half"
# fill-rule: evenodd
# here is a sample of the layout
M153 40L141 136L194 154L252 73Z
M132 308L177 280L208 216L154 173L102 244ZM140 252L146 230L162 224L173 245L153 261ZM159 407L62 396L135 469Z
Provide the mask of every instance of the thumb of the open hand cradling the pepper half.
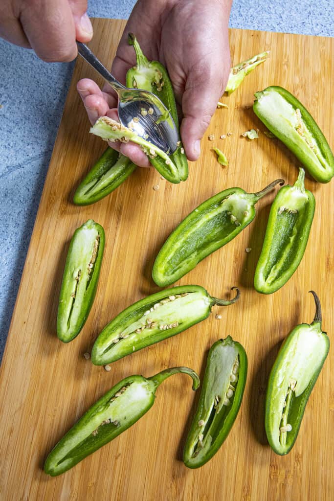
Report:
M182 97L181 138L189 160L197 160L200 141L208 128L217 102L223 94L229 65L207 61L196 64L189 71ZM221 70L217 68L221 68Z

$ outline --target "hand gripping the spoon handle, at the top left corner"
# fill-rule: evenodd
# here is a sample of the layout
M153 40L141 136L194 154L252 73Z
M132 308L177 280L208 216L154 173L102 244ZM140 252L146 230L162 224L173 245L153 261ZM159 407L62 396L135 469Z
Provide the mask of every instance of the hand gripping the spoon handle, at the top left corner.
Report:
M0 37L34 49L44 61L72 61L76 40L93 36L86 11L87 0L2 0Z

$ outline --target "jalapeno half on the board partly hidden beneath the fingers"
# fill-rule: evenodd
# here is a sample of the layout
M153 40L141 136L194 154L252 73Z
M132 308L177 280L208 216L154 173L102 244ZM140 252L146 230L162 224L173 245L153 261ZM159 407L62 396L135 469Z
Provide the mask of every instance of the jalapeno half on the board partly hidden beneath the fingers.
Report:
M73 201L76 205L89 205L101 200L118 188L136 169L128 157L113 148L107 148L79 184Z

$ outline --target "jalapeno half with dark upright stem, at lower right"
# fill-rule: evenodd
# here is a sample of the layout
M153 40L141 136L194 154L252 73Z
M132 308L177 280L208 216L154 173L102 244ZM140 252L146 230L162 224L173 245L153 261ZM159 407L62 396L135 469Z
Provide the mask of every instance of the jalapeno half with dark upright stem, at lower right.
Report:
M305 406L329 350L321 330L320 302L313 291L313 322L297 325L272 366L265 399L265 431L276 454L287 454L297 438Z

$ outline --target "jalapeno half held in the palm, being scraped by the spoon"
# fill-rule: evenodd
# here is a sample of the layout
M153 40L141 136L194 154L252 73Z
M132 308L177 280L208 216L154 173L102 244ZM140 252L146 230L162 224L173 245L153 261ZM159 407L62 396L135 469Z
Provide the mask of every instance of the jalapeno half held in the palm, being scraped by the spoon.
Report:
M137 62L136 66L130 68L127 72L126 85L128 87L137 87L155 94L163 102L167 110L169 110L178 129L180 139L179 119L174 91L166 68L158 61L148 61L136 37L132 33L129 33L128 42L130 45L133 45L136 51ZM185 181L188 177L188 161L181 140L179 146L170 155L170 158L178 169L178 175L175 175L174 180L171 182L178 183L180 181ZM165 168L164 160L160 157L149 158L149 160L159 172L161 172L161 169Z

